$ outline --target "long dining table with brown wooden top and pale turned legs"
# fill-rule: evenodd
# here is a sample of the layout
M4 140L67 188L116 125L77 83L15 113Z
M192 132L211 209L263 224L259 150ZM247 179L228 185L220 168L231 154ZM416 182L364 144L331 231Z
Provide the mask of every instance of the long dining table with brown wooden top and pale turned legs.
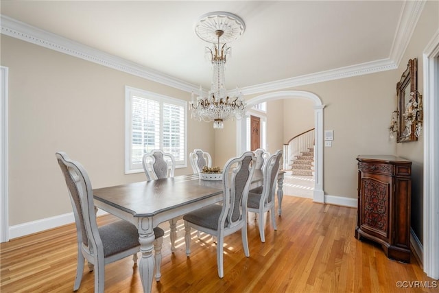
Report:
M281 215L283 174L278 174L278 215ZM263 173L255 170L250 188L263 184ZM202 180L198 174L141 181L93 189L95 207L137 227L141 259L139 274L143 292L152 291L154 274L154 228L163 222L221 202L222 180Z

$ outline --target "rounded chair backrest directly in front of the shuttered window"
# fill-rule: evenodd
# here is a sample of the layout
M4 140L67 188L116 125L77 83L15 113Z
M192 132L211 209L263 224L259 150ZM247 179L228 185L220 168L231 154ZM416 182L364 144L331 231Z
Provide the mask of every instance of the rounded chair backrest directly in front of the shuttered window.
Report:
M174 177L176 159L169 152L155 149L143 155L142 165L147 180L163 179Z

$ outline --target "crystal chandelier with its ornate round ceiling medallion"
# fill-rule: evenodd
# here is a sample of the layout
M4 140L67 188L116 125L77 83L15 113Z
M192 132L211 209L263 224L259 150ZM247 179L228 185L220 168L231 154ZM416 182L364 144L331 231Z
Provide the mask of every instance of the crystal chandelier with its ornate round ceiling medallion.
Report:
M233 95L226 91L224 65L230 56L231 47L226 44L236 40L244 33L244 21L229 12L211 12L200 17L195 24L195 34L202 40L212 43L205 53L213 67L211 90L204 95L202 87L195 97L192 93L189 108L191 117L198 121L213 121L213 128L224 128L224 120L241 119L246 113L246 102L238 87Z

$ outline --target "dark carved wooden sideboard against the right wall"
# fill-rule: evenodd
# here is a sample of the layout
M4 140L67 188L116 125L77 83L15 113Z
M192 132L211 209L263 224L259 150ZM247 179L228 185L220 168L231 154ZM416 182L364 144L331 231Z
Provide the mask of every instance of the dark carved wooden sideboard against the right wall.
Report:
M410 263L412 162L397 156L358 156L355 237L381 244L385 255Z

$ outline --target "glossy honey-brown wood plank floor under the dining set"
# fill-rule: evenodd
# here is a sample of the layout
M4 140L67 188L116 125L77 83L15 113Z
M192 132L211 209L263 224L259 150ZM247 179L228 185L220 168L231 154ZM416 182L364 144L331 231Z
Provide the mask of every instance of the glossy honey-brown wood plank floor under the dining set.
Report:
M277 231L267 217L265 243L259 239L257 219L250 214L250 258L244 257L239 232L226 237L223 279L217 276L212 238L202 234L198 240L194 231L187 258L179 222L175 254L170 252L169 231L163 239L162 278L154 281L153 292L439 292L431 288L437 281L426 277L414 257L410 264L392 261L379 246L355 239L356 213L356 209L284 196L283 215L276 216ZM105 215L98 222L114 219ZM75 239L71 224L1 244L0 291L72 292ZM107 265L105 291L142 292L138 270L130 257ZM93 272L84 268L78 292L93 292L93 281ZM406 281L403 285L409 288L397 288L398 281ZM414 281L420 283L409 283Z

